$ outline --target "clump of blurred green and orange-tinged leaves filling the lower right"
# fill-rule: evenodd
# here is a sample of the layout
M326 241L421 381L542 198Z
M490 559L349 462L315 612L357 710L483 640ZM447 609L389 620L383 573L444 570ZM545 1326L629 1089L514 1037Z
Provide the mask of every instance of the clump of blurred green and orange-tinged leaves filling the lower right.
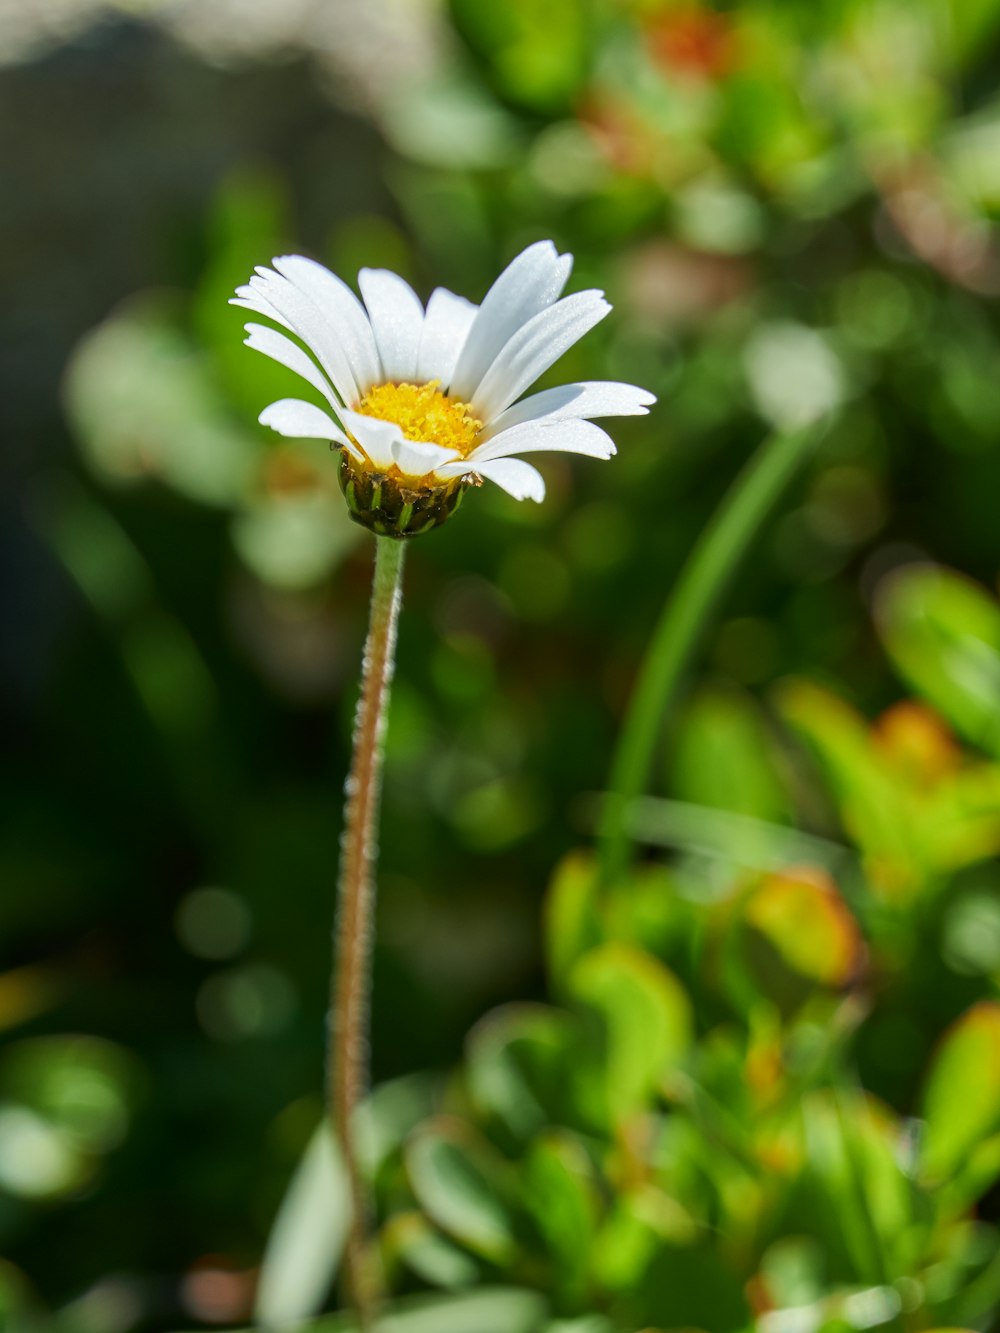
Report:
M983 619L925 648L921 666L960 698L956 643L992 652L996 604L915 568L883 612L899 651L945 588ZM1000 848L1000 769L963 753L924 701L875 726L805 681L784 682L777 705L793 733L769 752L749 696L688 709L685 726L708 737L685 737L692 785L723 828L732 812L715 849L685 846L681 822L663 838L681 853L669 868L604 889L585 854L557 870L545 921L561 1004L488 1014L461 1070L428 1089L429 1118L375 1177L391 1268L411 1266L409 1242L413 1270L431 1276L425 1233L392 1216L417 1209L475 1257L480 1281L507 1273L563 1317L605 1312L595 1326L608 1329L744 1328L792 1308L816 1329L992 1318L1000 1232L969 1209L1000 1178L996 944L949 960L980 978L960 1004L979 998L933 1046L912 992L940 985L956 924L983 897L960 872ZM749 824L719 749L731 769L768 774ZM696 794L683 778L677 792ZM777 816L760 809L773 792ZM845 840L828 844L837 880L799 861L785 820L804 797L823 798ZM788 834L784 868L753 869L761 826L767 860Z

